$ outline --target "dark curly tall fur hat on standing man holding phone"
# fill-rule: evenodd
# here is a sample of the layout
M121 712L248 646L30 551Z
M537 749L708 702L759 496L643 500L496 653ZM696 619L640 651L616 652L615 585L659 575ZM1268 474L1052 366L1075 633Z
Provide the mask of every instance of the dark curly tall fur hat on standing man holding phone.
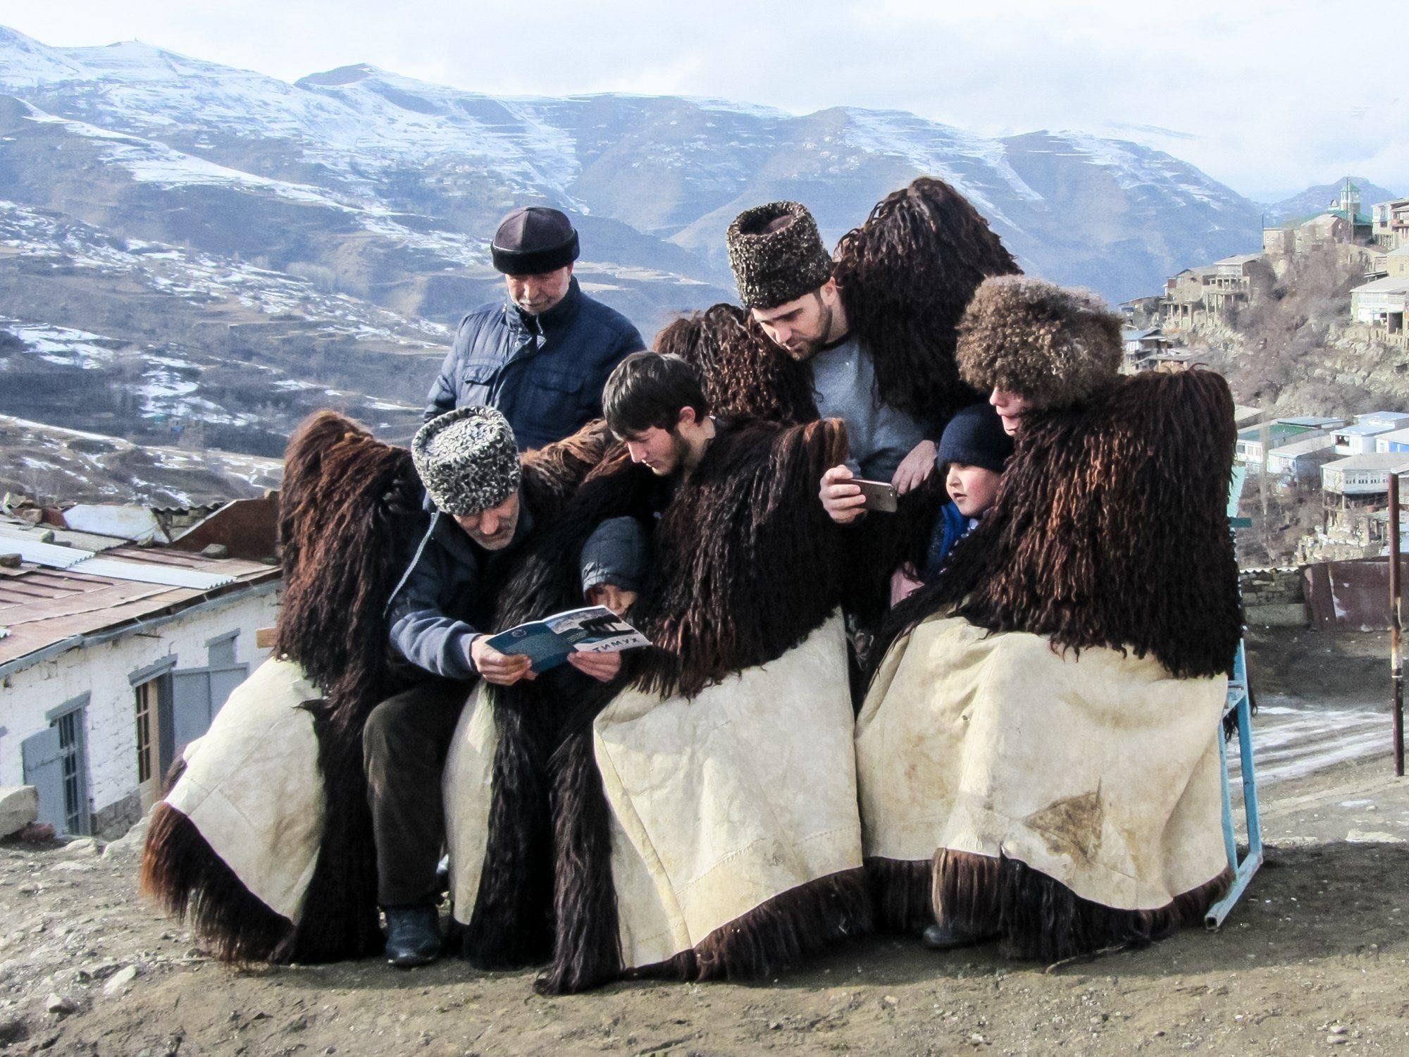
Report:
M817 221L796 202L745 209L728 225L728 266L745 309L776 309L831 278Z

